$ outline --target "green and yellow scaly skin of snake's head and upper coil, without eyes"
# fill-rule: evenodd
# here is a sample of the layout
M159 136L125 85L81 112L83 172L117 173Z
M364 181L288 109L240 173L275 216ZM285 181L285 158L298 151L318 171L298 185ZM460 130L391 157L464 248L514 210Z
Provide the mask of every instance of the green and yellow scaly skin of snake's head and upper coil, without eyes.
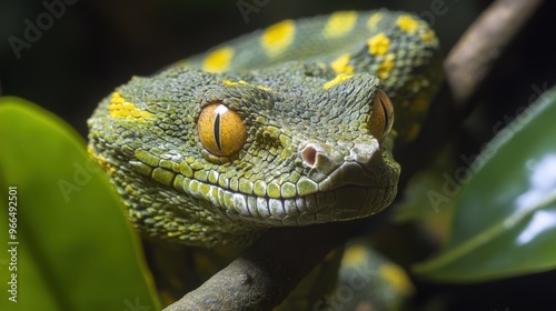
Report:
M439 81L437 46L400 12L284 21L118 88L89 120L89 150L138 228L191 245L368 217L396 195L390 149L418 133ZM396 113L384 139L380 89ZM245 126L232 154L199 139L212 103Z

